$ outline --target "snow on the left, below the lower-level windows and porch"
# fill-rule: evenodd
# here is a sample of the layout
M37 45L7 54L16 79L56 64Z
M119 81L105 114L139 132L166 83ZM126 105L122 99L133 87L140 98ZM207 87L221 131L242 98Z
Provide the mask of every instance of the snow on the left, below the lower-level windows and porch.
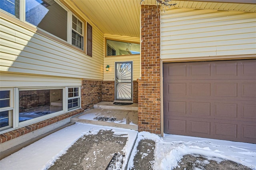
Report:
M22 148L18 152L0 160L1 170L45 170L50 167L55 160L68 150L76 140L85 134L97 134L99 130L111 130L114 134L127 134L128 141L123 148L127 153L132 150L134 140L138 131L123 128L104 127L76 123L69 127L54 132L32 144ZM125 157L125 163L128 157Z

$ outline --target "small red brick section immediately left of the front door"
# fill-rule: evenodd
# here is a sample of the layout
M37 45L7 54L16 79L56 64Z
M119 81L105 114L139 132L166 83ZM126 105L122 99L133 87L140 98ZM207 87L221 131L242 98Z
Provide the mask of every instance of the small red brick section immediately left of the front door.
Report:
M102 81L102 101L115 100L115 81Z

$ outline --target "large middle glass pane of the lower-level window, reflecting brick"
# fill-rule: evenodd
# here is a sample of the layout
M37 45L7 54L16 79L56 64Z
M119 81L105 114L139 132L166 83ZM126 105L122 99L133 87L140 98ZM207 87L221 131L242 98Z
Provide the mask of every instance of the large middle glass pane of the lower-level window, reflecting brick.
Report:
M19 123L62 111L62 89L20 90Z

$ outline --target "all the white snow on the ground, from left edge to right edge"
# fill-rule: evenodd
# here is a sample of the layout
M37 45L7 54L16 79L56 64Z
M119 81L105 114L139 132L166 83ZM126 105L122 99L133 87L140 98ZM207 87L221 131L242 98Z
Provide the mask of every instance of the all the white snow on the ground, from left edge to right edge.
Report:
M0 160L0 168L3 170L45 170L78 138L84 134L97 134L101 129L112 129L114 134L128 134L128 142L123 150L126 153L132 150L138 133L135 130L76 123ZM134 148L142 139L151 139L156 142L154 150L156 170L168 170L176 167L178 161L186 154L201 154L216 161L224 158L256 170L256 144L170 134L164 134L164 137L161 138L149 132L139 132ZM124 163L128 162L128 169L133 166L132 160L135 154L136 149L133 149L129 162L128 156L125 156Z

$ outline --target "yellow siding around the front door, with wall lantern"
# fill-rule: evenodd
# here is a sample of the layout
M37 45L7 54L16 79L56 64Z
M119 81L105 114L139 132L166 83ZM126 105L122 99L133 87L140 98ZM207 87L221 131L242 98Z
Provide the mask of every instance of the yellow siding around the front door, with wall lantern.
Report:
M124 55L117 57L104 58L104 81L114 81L115 79L115 62L133 61L133 80L140 77L140 55ZM106 71L106 65L109 65L109 71Z

